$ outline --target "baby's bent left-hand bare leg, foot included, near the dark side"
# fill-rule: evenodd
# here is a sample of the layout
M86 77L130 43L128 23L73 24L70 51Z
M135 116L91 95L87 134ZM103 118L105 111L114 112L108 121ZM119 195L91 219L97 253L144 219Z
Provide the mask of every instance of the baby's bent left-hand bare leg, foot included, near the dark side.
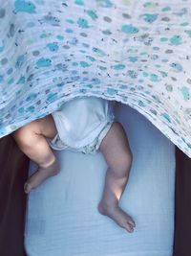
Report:
M53 138L55 134L56 128L51 115L35 120L13 132L13 137L21 151L38 165L37 172L31 175L25 184L26 193L40 185L49 176L59 172L53 151L45 138Z

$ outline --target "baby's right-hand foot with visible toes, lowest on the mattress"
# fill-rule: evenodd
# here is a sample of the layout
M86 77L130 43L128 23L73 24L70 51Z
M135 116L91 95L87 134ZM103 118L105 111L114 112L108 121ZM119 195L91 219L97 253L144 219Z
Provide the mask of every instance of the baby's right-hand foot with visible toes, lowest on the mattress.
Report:
M100 202L98 211L100 214L106 215L116 221L119 226L125 228L128 232L134 232L134 227L136 226L135 221L118 206L108 206L105 203Z

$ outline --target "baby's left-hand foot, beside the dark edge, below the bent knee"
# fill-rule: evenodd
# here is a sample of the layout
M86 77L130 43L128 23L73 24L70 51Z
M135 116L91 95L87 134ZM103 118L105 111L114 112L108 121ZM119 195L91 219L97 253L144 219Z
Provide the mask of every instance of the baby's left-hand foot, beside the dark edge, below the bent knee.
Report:
M50 176L57 175L58 173L59 165L56 160L48 167L39 167L38 170L31 175L25 183L25 193L29 194L32 189L39 186L45 179Z

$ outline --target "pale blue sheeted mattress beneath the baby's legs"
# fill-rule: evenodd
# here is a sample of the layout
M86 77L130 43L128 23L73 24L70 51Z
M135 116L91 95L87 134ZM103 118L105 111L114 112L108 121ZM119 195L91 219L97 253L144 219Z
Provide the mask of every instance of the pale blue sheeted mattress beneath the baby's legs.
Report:
M172 256L175 146L127 105L117 107L117 120L134 155L120 205L136 221L135 232L97 211L107 169L101 153L57 151L61 173L28 199L28 256Z

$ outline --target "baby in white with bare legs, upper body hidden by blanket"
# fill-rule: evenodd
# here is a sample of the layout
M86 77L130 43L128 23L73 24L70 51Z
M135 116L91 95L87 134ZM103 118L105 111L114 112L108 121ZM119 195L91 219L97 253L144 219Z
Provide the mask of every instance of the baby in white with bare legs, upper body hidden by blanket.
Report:
M59 173L51 148L83 153L101 151L108 170L98 211L128 232L134 231L135 222L118 206L128 181L132 152L124 129L115 121L113 102L96 97L75 98L52 115L17 129L13 137L21 151L38 165L25 184L26 193Z

